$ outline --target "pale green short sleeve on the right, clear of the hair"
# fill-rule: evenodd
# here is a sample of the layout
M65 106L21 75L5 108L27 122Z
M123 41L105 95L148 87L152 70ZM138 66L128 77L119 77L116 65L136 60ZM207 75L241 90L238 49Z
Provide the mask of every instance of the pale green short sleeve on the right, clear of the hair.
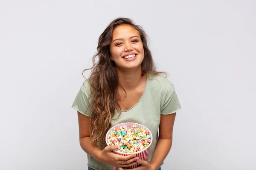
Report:
M180 102L173 86L167 88L162 94L163 107L161 114L171 114L181 109Z

